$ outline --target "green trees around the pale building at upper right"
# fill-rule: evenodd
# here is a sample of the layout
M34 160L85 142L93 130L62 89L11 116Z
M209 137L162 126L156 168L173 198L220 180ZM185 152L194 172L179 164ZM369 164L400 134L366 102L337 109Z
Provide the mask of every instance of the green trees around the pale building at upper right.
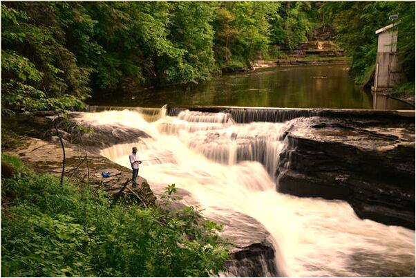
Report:
M322 12L330 15L336 39L352 57L351 71L357 83L366 84L375 68L377 35L375 30L392 23L389 15L399 13L398 49L404 69L414 78L415 3L395 1L327 2ZM413 71L413 74L411 74ZM409 74L410 73L410 74Z

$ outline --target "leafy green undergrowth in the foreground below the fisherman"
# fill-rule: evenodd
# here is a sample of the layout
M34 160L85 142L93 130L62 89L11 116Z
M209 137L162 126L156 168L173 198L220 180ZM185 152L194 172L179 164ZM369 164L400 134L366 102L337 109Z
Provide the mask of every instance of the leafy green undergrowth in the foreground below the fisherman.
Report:
M1 190L8 201L1 210L2 276L207 277L229 256L220 226L193 207L110 208L109 194L60 185L50 175L16 174Z

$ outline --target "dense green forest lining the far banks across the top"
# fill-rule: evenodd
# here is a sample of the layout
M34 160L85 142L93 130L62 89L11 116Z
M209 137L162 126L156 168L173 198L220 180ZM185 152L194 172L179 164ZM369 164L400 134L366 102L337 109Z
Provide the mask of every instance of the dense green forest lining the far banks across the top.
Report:
M8 2L1 4L2 112L68 109L122 82L200 82L256 59L276 59L331 30L366 84L375 30L398 14L399 54L415 77L415 3Z

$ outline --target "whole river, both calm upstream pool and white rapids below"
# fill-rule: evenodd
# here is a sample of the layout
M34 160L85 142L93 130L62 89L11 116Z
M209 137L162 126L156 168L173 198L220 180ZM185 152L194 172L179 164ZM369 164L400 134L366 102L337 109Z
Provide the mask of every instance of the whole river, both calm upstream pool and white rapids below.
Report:
M355 86L348 65L276 66L200 84L107 95L91 104L413 109ZM142 160L149 160L143 163L140 176L156 194L175 183L182 202L198 206L211 219L232 221L236 213L256 219L272 235L281 275L415 275L414 230L359 219L345 201L298 198L276 191L274 174L286 144L283 134L296 121L308 118L247 122L224 112L179 109L169 116L166 109L152 111L82 113L79 120L147 133L148 138L102 149L101 154L130 167L127 157L136 146Z

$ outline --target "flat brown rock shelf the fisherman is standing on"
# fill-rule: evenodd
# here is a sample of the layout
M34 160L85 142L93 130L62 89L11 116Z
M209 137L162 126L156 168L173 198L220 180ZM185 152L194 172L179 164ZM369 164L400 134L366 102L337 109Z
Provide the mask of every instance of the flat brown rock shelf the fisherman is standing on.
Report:
M57 138L55 138L55 142L48 142L21 136L20 140L23 140L26 144L15 149L3 149L3 151L6 154L19 156L24 162L31 165L35 172L61 176L63 155ZM89 180L95 188L117 193L126 180L131 179L130 169L68 142L65 142L65 154L64 180ZM104 178L102 172L109 172L111 176ZM156 198L146 180L139 176L138 184L141 186L133 188L129 183L127 186L129 188L124 190L123 194L131 194L132 198L134 198L134 194L137 194L142 198L145 205L155 205Z

